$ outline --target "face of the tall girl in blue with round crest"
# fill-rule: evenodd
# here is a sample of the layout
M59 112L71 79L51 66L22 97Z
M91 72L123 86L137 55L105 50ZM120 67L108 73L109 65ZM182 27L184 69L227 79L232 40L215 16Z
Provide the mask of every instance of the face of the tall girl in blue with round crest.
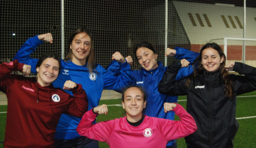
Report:
M70 49L72 50L72 62L76 65L84 65L90 54L90 36L85 32L78 33L70 44Z

